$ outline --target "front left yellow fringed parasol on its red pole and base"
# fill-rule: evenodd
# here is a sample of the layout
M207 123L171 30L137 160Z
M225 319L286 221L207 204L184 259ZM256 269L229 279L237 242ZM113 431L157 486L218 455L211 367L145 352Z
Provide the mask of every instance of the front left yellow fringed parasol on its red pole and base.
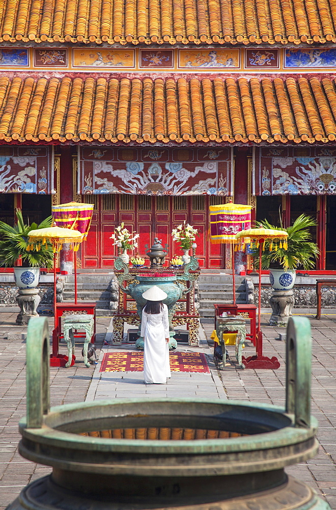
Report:
M59 337L57 335L57 314L56 314L56 252L62 249L63 244L70 243L70 249L77 251L79 243L83 240L83 234L71 228L61 228L59 226L50 226L47 228L37 228L31 230L28 236L27 250L36 249L37 251L42 244L49 242L53 249L53 314L54 314L54 332L52 335L52 355L51 366L60 366L60 358L64 358L59 354ZM66 356L67 358L67 356ZM53 361L54 360L54 361ZM68 358L66 359L68 361ZM64 362L64 364L66 363Z

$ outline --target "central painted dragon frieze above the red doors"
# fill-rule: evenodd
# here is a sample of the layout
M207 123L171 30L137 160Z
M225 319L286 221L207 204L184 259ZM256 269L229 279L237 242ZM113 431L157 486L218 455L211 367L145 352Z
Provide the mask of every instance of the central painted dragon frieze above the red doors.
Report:
M232 149L80 147L82 195L232 195Z

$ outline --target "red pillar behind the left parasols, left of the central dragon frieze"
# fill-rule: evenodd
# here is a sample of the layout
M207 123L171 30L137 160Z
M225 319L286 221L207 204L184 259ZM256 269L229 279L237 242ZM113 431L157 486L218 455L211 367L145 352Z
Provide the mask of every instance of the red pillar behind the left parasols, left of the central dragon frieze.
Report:
M60 203L67 203L73 200L73 172L72 172L71 145L61 146L60 154ZM60 270L72 273L73 251L69 245L64 245L60 252Z

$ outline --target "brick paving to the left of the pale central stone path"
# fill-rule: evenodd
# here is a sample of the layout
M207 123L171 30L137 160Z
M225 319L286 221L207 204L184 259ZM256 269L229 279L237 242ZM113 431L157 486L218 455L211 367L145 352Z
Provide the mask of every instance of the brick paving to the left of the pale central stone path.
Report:
M7 340L8 333L21 333L14 326L16 313L0 313L0 509L4 510L29 482L45 476L51 468L27 461L18 453L18 421L25 415L25 340ZM48 319L50 331L53 318ZM110 318L97 318L97 347L101 347ZM73 367L50 367L50 405L85 400L94 367L82 363L82 344L76 342ZM60 352L66 354L65 344Z

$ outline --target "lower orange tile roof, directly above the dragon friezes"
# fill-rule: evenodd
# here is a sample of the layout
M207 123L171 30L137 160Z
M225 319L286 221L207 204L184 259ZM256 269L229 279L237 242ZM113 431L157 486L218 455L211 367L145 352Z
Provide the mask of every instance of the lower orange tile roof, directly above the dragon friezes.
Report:
M332 78L21 78L0 75L0 140L328 142Z

